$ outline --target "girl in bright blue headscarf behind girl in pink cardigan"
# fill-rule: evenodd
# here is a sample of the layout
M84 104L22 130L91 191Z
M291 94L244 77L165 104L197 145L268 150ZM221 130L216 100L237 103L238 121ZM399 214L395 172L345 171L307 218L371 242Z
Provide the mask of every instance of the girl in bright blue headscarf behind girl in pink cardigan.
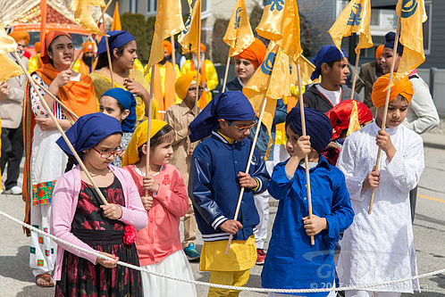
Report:
M99 99L99 111L116 120L122 127L122 151L125 152L136 125L136 99L123 88L114 87L106 91ZM116 156L113 165L122 167L122 155Z

